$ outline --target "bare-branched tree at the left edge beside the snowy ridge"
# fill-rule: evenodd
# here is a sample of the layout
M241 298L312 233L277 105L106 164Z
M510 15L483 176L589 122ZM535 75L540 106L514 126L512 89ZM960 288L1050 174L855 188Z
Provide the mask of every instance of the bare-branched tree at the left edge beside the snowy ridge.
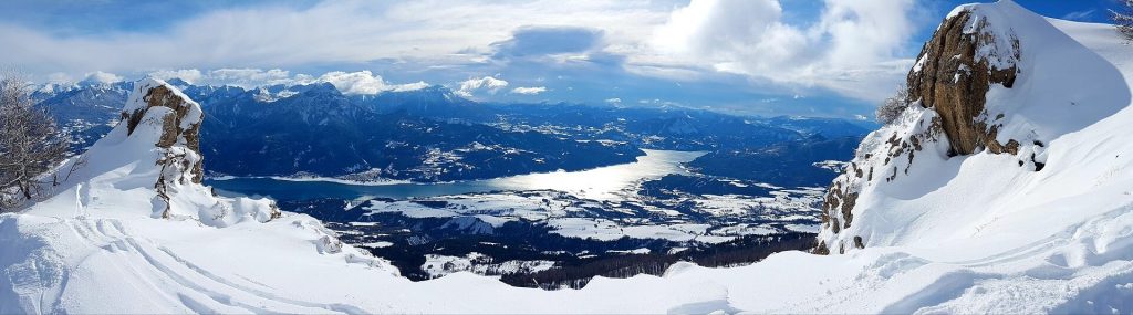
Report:
M35 108L28 87L19 76L0 75L0 210L36 197L40 174L67 154L66 136Z

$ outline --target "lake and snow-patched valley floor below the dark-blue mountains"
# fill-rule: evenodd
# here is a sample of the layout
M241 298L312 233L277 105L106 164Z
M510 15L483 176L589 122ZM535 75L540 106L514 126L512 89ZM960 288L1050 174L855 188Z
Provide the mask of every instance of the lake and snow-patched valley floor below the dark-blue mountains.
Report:
M517 279L560 274L538 283L579 288L614 270L713 257L705 253L729 250L746 258L727 264L741 264L813 246L807 240L818 230L823 188L713 178L683 167L704 152L645 152L634 163L472 181L206 182L221 195L271 197L284 211L320 218L414 280L471 271L527 286ZM594 267L611 264L619 269Z

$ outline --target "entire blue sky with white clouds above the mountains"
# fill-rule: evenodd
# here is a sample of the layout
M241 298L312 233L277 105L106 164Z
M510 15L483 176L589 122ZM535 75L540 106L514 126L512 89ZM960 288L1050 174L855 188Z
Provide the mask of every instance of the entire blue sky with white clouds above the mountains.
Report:
M41 82L438 84L480 101L854 118L965 2L8 0L0 65ZM1118 5L1016 2L1081 22Z

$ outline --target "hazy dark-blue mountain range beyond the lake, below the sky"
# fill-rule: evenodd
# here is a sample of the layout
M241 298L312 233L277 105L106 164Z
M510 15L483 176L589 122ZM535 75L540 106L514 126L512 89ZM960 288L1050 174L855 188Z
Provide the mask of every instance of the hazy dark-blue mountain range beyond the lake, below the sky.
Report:
M344 95L327 83L256 88L169 80L208 118L212 174L445 181L625 163L638 147L752 150L808 135L860 135L837 119L744 118L679 108L474 102L443 86ZM78 147L117 117L126 84L44 86L41 105Z

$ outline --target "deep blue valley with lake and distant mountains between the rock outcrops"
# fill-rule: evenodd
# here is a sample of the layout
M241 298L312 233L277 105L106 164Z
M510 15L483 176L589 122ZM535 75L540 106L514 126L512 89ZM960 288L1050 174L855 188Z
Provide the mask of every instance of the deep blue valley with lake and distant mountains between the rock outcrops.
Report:
M478 103L440 86L369 96L330 84L170 84L202 101L205 184L216 194L320 219L417 281L468 271L581 288L679 261L725 266L808 249L823 186L841 171L819 164L849 159L866 130L681 108ZM99 104L128 88L36 97L83 148L109 130L99 121L116 119Z

